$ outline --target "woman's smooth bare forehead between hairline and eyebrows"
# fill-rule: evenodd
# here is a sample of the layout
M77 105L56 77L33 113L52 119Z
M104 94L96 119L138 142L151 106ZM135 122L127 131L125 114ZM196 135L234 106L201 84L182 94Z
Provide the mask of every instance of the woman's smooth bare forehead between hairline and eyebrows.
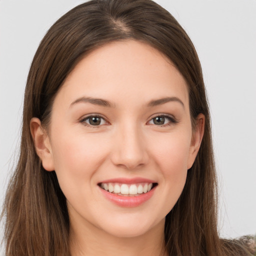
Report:
M188 106L187 85L172 62L150 45L123 40L105 44L82 58L58 94L70 102L80 96L122 102L178 96ZM57 95L58 97L58 95Z

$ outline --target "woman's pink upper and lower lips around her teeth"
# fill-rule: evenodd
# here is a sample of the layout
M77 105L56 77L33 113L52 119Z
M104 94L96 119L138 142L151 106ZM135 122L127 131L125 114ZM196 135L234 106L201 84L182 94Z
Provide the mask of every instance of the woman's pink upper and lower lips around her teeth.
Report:
M143 182L148 182L148 183L156 183L154 180L151 179L145 179L145 178L113 178L113 179L107 179L103 180L100 183L124 183L124 184L135 184L135 183L143 183ZM100 184L99 183L99 184ZM102 194L111 202L118 206L122 207L135 207L139 206L142 203L146 202L151 198L155 191L156 187L153 187L149 192L142 193L142 194L137 194L135 196L125 196L125 195L118 195L114 193L110 193L102 188L99 187L100 191Z

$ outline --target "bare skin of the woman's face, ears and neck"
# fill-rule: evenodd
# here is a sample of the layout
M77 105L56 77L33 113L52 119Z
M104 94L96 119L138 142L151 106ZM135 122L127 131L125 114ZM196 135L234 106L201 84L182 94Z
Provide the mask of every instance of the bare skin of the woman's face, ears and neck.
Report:
M167 96L180 102L147 106ZM77 101L81 97L103 98L114 107ZM67 199L72 255L164 254L165 215L203 135L202 114L192 132L188 100L185 80L163 54L126 40L95 49L75 66L57 92L47 132L31 119L37 154L45 170L55 170ZM85 117L95 113L104 119L89 125ZM153 117L162 114L172 120L155 124ZM157 186L143 204L121 207L97 185L116 177L148 178Z

